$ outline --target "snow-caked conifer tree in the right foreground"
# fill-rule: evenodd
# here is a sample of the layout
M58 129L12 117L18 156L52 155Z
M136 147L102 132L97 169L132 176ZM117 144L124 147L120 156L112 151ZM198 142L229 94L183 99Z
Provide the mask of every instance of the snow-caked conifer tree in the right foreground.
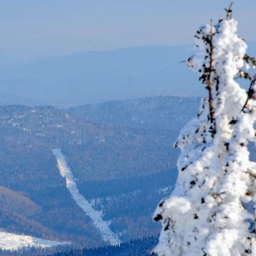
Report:
M160 256L256 255L254 211L246 209L256 200L256 163L248 151L256 142L256 78L243 71L256 62L237 36L231 7L226 11L226 19L196 31L187 60L208 96L175 143L181 150L176 187L154 214L163 226L153 252ZM251 80L248 92L239 77Z

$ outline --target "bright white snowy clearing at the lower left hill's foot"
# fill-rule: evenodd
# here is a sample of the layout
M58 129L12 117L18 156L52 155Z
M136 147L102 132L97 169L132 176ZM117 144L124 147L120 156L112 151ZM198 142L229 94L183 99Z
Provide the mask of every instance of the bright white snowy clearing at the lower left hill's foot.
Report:
M5 250L14 251L16 249L28 246L46 248L51 246L67 244L69 243L42 240L31 236L0 232L0 248Z

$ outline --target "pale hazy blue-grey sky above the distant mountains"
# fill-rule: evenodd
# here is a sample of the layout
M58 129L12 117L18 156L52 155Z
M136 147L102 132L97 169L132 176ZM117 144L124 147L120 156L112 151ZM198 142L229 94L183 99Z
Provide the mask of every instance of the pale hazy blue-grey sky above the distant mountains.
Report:
M0 53L41 58L138 45L193 42L226 0L0 0ZM239 30L256 41L255 0L234 1Z

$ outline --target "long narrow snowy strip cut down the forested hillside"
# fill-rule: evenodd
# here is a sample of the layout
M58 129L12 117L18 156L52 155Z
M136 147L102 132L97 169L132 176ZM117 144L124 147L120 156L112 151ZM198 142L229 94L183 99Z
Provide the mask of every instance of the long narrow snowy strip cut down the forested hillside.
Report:
M93 225L99 230L102 235L102 239L105 242L110 242L111 245L116 245L120 243L120 240L117 234L114 234L108 222L102 219L102 213L100 211L96 211L93 209L92 204L84 198L83 195L80 194L79 190L76 187L76 183L73 177L73 173L70 170L69 166L67 166L66 159L62 154L60 149L53 149L55 157L57 158L58 168L60 170L60 175L66 178L66 186L73 199L76 201L76 204L82 208L84 213L86 213L90 219L92 219Z

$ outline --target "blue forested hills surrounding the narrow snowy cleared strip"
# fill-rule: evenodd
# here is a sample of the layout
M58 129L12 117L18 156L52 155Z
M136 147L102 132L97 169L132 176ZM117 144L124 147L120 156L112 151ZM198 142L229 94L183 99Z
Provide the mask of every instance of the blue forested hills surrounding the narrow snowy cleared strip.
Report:
M120 240L158 233L152 213L176 181L178 152L172 147L176 129L195 115L193 104L198 99L138 101L114 103L116 116L107 107L113 102L100 110L92 106L95 112L90 115L49 106L0 107L0 228L81 246L104 245L66 189L52 154L59 148L81 194L102 211L104 220L111 221L110 228ZM152 111L143 114L144 107ZM167 122L161 126L166 117L159 113L175 113L175 109L184 110L184 118L173 114L170 123L176 126L169 129ZM130 117L135 113L139 121L120 119L122 113L131 113Z

